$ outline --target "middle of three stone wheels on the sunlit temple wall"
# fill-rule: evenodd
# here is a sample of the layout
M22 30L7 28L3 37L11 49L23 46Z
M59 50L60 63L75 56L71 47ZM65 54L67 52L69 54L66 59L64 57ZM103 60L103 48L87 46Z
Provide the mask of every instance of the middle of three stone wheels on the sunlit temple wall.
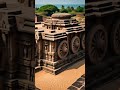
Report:
M71 49L73 53L77 53L80 49L80 38L78 36L75 36L72 38L71 41Z

